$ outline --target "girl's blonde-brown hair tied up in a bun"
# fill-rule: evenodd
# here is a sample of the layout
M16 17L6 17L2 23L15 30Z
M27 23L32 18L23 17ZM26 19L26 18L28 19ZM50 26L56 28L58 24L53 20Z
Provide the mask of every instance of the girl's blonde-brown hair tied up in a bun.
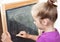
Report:
M53 4L54 2L54 0L48 0L45 3L37 3L32 8L32 15L36 14L41 19L48 18L52 22L55 22L57 19L57 6Z

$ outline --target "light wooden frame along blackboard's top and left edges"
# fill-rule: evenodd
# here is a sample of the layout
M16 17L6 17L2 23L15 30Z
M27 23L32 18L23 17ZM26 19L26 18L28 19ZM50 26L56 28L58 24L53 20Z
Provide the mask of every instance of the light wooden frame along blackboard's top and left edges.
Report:
M25 6L33 3L37 3L37 0L27 0L23 2L15 2L15 3L9 3L9 4L3 4L1 7L1 19L2 19L2 29L3 32L7 32L7 21L6 21L6 10L20 7L20 6Z

